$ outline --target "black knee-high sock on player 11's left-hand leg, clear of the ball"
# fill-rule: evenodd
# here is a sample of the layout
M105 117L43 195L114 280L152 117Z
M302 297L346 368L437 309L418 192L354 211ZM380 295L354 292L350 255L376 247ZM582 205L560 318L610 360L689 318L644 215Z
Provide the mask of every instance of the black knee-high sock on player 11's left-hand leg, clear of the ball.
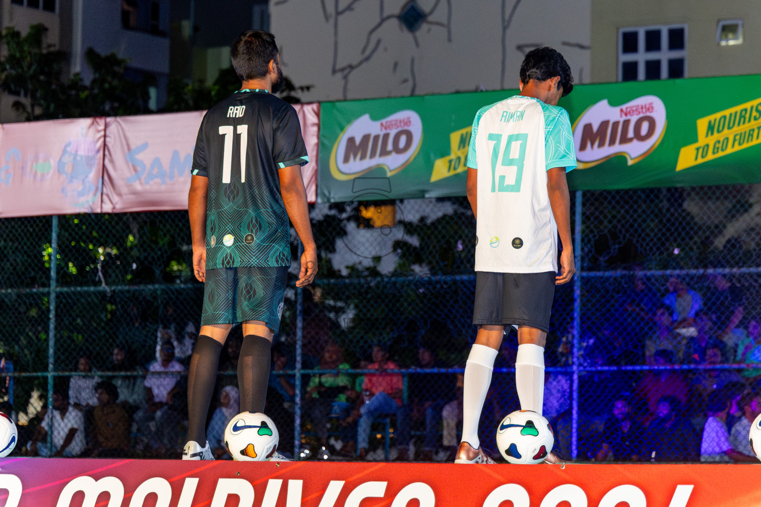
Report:
M206 414L212 402L217 382L219 353L222 344L212 337L201 335L196 340L188 371L188 440L205 445Z

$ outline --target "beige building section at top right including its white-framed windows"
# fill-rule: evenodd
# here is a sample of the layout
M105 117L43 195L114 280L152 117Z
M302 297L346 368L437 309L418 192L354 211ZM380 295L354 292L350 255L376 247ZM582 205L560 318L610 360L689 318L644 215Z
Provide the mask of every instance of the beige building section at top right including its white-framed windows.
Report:
M761 5L592 0L591 81L761 73Z

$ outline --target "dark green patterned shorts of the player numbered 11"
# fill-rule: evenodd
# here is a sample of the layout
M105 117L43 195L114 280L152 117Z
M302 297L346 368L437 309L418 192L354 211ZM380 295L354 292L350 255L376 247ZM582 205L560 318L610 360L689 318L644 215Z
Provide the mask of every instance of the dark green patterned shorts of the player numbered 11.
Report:
M278 332L287 280L285 267L207 269L201 325L256 320Z

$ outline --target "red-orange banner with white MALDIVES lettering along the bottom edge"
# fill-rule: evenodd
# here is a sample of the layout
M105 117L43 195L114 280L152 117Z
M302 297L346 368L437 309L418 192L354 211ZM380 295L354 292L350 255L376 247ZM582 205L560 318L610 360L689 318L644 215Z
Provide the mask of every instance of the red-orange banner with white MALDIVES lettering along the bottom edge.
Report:
M757 507L761 464L457 465L12 458L5 507Z

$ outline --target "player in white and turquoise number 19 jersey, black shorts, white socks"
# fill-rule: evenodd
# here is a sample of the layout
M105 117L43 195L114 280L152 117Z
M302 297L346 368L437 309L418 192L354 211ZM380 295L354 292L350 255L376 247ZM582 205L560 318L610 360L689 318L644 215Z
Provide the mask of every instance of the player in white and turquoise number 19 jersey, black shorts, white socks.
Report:
M517 327L521 410L542 414L552 297L575 271L565 173L576 156L568 112L557 106L572 83L559 52L534 49L521 65L521 95L483 107L473 121L467 195L476 216L473 324L479 331L465 366L455 463L494 463L480 446L478 423L507 325ZM552 453L545 461L560 462Z

